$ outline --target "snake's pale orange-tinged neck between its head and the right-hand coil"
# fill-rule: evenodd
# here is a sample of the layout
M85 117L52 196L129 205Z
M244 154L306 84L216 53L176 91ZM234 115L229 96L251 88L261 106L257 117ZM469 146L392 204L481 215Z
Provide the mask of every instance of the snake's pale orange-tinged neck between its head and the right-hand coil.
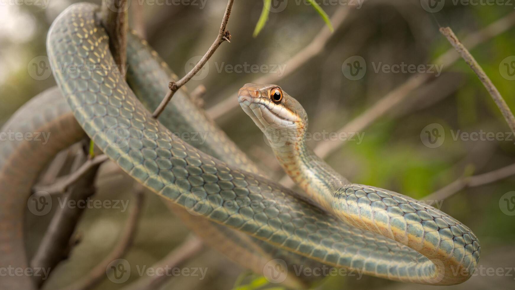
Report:
M272 148L286 174L324 209L331 209L333 193L349 181L315 155L304 138Z

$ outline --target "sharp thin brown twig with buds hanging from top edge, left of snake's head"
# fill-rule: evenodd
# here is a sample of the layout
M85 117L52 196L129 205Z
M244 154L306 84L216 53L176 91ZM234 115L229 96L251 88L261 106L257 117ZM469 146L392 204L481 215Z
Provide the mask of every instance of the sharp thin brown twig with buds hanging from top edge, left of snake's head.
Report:
M190 79L193 76L195 76L195 74L198 73L200 71L200 69L202 69L204 64L206 62L208 62L208 60L211 58L211 56L213 56L216 49L220 46L220 44L222 44L222 42L224 42L224 41L231 42L231 33L229 32L229 30L226 30L226 28L227 28L227 23L229 22L229 16L231 15L233 3L234 3L234 0L229 0L229 2L227 2L227 7L226 7L226 10L224 13L224 18L222 19L222 23L220 25L220 30L218 31L218 35L216 36L216 39L213 42L213 44L211 45L211 47L204 54L204 56L202 56L200 61L193 67L193 69L190 72L188 72L184 77L182 77L177 82L171 81L168 84L168 88L170 89L170 91L168 91L166 96L163 98L163 100L161 101L161 104L159 104L156 111L153 112L153 114L152 114L153 117L155 117L155 118L159 117L159 115L163 112L164 108L170 101L171 97L174 96L175 92L177 92L177 90L179 90L182 86L184 86L184 84L186 82L190 81Z

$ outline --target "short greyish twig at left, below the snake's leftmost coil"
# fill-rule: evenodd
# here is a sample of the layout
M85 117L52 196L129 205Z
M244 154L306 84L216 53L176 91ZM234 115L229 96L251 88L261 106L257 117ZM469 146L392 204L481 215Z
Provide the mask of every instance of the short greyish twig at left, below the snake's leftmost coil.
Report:
M82 164L82 166L80 166L79 169L77 169L75 172L58 178L54 184L35 186L33 191L36 193L42 191L50 195L64 193L70 185L74 184L77 180L90 172L90 170L92 170L95 166L98 166L107 159L107 155L98 155L95 158L84 162L84 164Z

